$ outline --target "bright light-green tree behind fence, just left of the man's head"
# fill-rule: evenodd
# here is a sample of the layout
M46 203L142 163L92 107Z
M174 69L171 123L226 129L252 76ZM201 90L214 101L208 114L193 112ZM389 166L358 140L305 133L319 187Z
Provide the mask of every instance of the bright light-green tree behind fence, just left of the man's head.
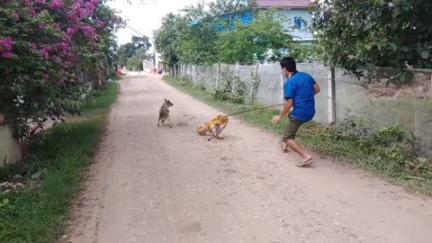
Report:
M259 13L253 23L235 23L235 29L222 31L216 40L218 59L223 63L275 61L291 49L293 36L273 19L273 11Z

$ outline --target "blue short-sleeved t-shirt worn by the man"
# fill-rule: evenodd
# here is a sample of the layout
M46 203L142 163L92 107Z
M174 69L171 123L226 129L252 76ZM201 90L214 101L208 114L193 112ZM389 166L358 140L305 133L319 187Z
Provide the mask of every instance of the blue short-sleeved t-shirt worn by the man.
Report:
M316 82L307 73L297 72L285 81L284 99L293 99L291 115L300 121L311 121L315 116L313 85Z

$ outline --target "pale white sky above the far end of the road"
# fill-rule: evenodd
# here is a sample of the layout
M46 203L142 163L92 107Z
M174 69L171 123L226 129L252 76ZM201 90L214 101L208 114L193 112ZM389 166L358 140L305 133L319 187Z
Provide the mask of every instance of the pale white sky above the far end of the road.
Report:
M157 30L161 23L162 17L169 13L180 13L178 10L191 4L196 4L197 0L131 0L132 4L127 4L126 0L115 0L108 4L121 11L121 18L129 20L128 25L135 31L147 35L152 41L153 31ZM211 0L206 1L206 3ZM132 34L139 36L135 31L126 27L117 32L118 44L130 42Z

